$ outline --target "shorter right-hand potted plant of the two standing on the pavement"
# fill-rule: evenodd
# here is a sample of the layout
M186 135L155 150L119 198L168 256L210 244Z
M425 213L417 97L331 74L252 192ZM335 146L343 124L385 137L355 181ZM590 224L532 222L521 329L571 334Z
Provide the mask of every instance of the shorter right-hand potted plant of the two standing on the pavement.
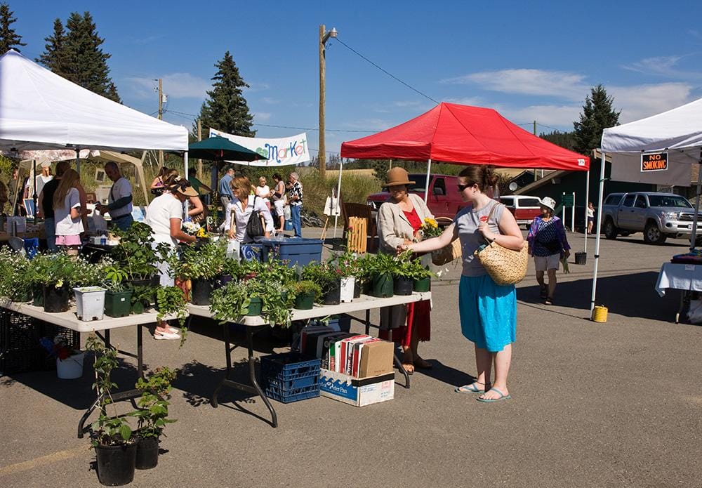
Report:
M139 378L137 390L142 394L137 400L138 410L134 437L137 440L136 468L151 469L159 463L159 441L164 435L166 423L175 420L168 418L168 402L171 398L171 383L176 379L176 371L166 367L157 368L149 378Z

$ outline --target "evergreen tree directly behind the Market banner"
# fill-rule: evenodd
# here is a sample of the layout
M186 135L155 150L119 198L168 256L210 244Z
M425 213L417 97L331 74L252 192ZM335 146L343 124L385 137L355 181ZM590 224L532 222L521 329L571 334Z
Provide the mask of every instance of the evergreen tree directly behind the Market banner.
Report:
M213 88L207 92L209 98L200 109L199 119L203 131L211 127L236 136L256 136L256 131L251 130L253 116L243 95L243 89L249 88L249 85L241 78L239 68L229 51L215 67L217 73L212 77ZM197 119L193 131L197 133Z

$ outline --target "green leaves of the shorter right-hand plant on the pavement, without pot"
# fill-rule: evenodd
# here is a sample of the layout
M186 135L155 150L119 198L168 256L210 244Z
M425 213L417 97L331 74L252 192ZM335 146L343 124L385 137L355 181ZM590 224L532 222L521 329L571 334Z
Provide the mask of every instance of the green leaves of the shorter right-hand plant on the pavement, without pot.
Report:
M138 410L132 413L138 419L138 437L160 437L167 423L175 420L168 418L168 402L171 398L171 383L176 379L176 371L166 367L157 368L147 379L139 378L136 388L142 392L137 401Z

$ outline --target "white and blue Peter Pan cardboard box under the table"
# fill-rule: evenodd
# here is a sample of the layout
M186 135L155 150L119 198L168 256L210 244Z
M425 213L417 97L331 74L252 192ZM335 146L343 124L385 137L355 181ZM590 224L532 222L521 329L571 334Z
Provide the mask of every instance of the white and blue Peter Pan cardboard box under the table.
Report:
M322 368L319 394L355 407L386 402L395 397L395 374L356 379Z

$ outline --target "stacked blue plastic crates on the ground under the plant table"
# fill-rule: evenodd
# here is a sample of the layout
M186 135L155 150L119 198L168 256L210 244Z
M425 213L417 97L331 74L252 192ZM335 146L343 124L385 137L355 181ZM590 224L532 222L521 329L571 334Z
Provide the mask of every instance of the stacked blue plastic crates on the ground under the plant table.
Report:
M261 358L265 395L282 403L319 397L318 358L286 352Z

